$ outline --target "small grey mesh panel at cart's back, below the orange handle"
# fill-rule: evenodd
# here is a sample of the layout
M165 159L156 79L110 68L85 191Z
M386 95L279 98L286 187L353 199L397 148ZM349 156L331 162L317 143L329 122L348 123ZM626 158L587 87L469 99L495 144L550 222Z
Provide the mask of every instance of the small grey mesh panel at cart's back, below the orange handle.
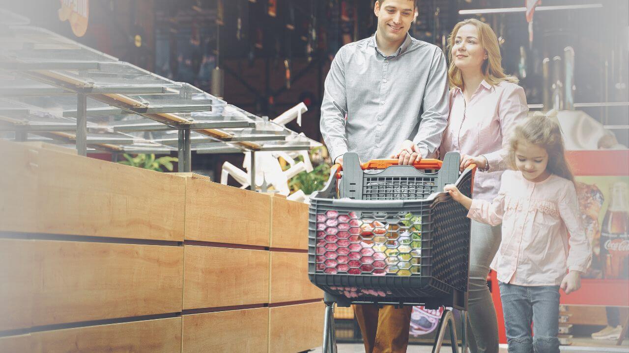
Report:
M421 200L435 191L435 178L423 176L365 176L364 200Z

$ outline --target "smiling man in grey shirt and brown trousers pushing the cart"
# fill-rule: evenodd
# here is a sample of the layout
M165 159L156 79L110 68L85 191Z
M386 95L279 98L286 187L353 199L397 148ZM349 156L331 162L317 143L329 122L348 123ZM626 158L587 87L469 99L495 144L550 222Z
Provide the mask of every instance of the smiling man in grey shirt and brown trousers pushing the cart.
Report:
M376 35L343 46L331 63L321 103L321 134L333 161L433 156L448 119L442 50L408 30L415 0L376 0ZM353 305L365 352L406 352L412 307Z

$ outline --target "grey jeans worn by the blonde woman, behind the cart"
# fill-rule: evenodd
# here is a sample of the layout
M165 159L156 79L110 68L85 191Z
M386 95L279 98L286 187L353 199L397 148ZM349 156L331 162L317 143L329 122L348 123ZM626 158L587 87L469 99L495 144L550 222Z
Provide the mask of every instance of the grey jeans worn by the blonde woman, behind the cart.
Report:
M489 265L501 241L501 225L472 220L467 310L467 339L472 353L498 353L496 308L487 287Z

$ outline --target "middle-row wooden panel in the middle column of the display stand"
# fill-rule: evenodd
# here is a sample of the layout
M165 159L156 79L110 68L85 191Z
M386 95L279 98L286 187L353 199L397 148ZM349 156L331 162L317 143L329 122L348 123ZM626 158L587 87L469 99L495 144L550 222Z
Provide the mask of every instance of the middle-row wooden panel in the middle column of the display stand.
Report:
M184 246L184 309L269 300L269 252Z

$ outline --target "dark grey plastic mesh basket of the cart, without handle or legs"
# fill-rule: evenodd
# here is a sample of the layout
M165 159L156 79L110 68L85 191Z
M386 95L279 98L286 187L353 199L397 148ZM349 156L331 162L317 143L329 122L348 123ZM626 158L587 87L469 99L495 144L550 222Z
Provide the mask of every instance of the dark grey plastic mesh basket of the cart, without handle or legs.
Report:
M310 280L350 301L428 303L422 301L428 298L447 305L440 298L452 303L454 296L464 296L470 220L446 193L426 200L436 191L436 179L365 175L365 200L354 200L352 207L336 205L336 183L328 184L309 208ZM470 196L471 182L467 173L456 185ZM403 207L374 209L370 200L405 201ZM462 307L456 301L449 306Z

